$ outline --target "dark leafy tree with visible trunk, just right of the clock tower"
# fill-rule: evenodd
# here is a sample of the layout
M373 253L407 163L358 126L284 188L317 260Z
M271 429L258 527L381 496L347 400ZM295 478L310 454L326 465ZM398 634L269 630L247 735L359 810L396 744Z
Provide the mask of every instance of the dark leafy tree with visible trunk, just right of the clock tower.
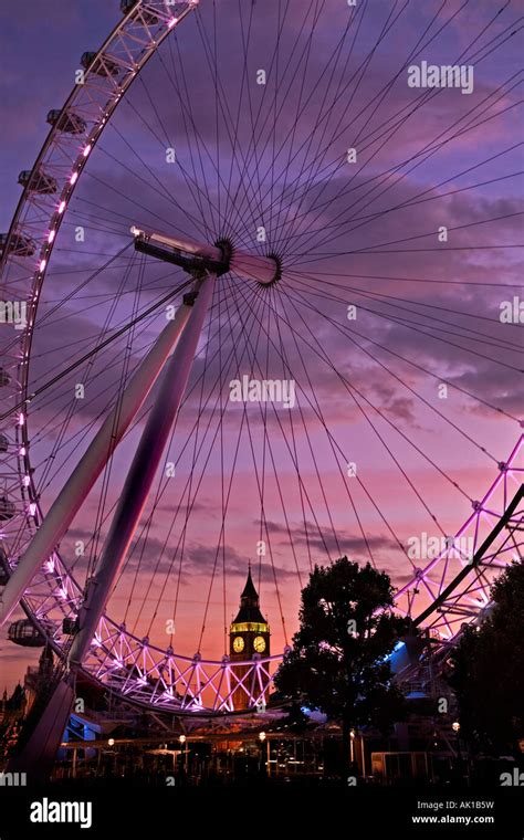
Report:
M404 716L386 657L408 621L391 615L388 575L342 557L315 566L302 590L300 630L275 674L280 693L342 725L344 771L353 727L384 731Z

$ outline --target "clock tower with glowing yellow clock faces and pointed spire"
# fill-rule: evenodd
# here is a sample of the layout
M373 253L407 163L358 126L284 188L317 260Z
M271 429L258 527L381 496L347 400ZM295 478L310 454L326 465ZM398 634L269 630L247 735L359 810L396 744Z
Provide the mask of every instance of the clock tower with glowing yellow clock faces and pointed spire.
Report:
M251 567L248 571L248 580L240 596L240 609L237 618L229 630L229 655L231 662L247 662L254 654L262 659L270 655L270 628L268 621L260 611L259 594L254 588L251 577ZM233 672L242 679L249 671L249 665L237 665ZM269 680L262 679L265 687ZM250 685L245 686L248 690ZM259 686L260 687L260 686ZM248 695L239 687L233 693L233 707L235 711L248 708Z

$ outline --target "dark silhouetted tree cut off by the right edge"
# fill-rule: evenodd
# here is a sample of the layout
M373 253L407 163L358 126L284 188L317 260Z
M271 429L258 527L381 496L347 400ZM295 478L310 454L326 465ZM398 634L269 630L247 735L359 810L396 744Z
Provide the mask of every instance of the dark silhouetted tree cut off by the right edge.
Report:
M524 738L524 563L513 563L491 590L493 607L465 627L448 680L459 703L461 734L473 748L518 753Z

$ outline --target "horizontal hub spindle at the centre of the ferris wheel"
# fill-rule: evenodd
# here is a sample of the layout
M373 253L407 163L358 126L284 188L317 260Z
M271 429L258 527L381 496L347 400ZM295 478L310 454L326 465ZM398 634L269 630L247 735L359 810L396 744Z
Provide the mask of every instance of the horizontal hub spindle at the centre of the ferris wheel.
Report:
M214 245L166 237L133 227L137 251L156 256L165 262L180 265L185 271L208 271L220 276L232 271L244 280L254 280L264 286L272 285L282 275L281 263L276 256L261 256L239 251L227 239L219 240Z

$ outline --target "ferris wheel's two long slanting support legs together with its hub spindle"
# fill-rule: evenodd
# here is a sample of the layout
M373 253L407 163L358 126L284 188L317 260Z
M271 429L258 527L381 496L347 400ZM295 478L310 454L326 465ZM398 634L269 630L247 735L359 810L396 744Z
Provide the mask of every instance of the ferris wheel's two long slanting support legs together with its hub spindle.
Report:
M55 685L28 743L10 763L12 768L31 769L33 775L38 773L38 768L41 773L48 771L60 745L72 710L76 673L87 654L113 585L134 538L184 399L217 276L232 271L242 279L270 285L279 280L281 274L276 258L237 252L228 242L202 245L163 234L132 230L138 250L180 265L195 277L195 286L184 296L175 321L164 329L155 347L133 376L119 405L109 412L78 466L55 498L41 528L11 575L0 602L0 621L6 621L38 568L52 554L67 531L115 447L164 370L155 403L118 498L96 573L86 588L66 659L66 671ZM172 355L168 359L171 350Z

